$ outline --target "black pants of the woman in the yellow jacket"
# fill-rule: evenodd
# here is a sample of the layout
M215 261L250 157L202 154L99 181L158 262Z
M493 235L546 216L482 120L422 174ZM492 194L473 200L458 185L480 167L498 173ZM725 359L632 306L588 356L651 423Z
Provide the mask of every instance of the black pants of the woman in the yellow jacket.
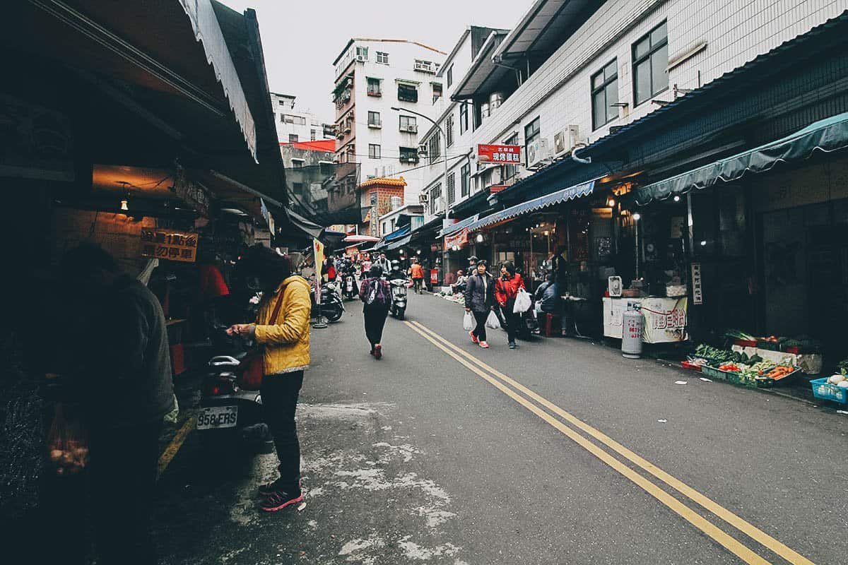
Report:
M300 480L300 442L294 422L304 372L269 374L262 378L262 414L274 436L276 458L280 462L280 482L287 492L296 490Z

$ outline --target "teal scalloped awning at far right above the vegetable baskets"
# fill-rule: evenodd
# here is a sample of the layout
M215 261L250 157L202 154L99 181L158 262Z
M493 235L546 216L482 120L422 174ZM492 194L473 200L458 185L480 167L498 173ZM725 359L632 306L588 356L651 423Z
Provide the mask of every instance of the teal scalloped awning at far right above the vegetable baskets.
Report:
M687 173L672 176L633 192L637 204L662 200L672 194L685 194L692 189L714 186L718 181L733 182L745 174L764 173L777 163L798 163L814 152L833 152L848 147L848 113L837 114L806 126L790 136L772 141L704 165Z

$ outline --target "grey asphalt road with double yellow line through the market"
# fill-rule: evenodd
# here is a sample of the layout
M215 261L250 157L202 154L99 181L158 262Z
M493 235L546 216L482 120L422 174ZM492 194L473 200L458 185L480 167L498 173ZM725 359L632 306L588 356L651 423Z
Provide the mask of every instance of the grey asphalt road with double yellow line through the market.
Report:
M189 433L159 481L163 562L848 562L845 415L588 341L482 350L461 318L410 296L381 361L358 304L313 330L306 507L260 512L275 457Z

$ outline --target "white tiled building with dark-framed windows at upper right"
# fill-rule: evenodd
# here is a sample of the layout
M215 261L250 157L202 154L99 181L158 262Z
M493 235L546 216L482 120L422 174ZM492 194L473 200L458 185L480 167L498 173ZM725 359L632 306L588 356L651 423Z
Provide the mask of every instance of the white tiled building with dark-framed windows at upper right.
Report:
M473 102L471 147L513 141L535 169L845 8L844 0L538 0L508 36L481 49L465 75L455 75L451 97ZM477 163L471 169L478 172ZM482 169L469 196L533 172L518 167L510 178L498 169ZM431 168L429 190L441 175ZM457 194L455 203L466 198Z

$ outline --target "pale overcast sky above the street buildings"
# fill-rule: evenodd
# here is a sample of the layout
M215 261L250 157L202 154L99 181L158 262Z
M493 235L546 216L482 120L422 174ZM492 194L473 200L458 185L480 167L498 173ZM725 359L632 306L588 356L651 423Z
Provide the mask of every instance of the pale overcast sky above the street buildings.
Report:
M351 37L409 39L450 53L468 25L511 29L532 0L222 0L254 8L271 91L335 121L332 61Z

